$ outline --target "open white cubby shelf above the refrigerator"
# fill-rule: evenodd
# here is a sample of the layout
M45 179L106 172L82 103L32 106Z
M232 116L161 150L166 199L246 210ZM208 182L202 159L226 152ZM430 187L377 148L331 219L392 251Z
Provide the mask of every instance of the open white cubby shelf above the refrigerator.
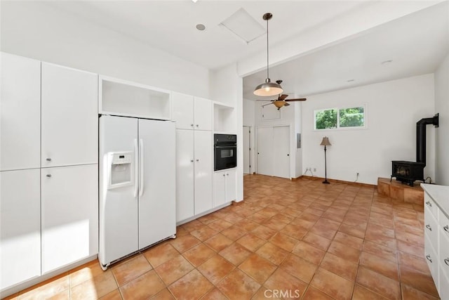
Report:
M104 115L171 119L170 91L99 77L98 112Z

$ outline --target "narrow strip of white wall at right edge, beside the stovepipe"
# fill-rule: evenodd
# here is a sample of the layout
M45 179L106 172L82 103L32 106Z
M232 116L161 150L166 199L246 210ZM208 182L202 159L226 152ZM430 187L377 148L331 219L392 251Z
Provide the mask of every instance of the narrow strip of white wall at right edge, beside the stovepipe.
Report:
M435 112L440 124L435 131L435 181L449 185L449 55L435 72Z

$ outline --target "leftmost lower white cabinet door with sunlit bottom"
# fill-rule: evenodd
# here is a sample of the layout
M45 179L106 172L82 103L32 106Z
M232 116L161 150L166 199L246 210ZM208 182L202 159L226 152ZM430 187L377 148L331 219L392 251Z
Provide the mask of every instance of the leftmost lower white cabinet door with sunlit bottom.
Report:
M0 289L41 275L40 176L0 172Z

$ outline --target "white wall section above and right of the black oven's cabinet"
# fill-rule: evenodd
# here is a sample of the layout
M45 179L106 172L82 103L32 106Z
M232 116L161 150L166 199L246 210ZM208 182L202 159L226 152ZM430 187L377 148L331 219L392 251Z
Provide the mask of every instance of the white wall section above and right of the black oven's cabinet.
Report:
M243 79L237 74L237 65L231 64L210 72L210 98L236 109L237 134L237 194L243 200Z

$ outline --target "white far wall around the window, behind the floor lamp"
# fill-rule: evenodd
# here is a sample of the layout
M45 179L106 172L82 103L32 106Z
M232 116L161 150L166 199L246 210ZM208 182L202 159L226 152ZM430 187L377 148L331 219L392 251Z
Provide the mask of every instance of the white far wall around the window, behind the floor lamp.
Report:
M359 105L366 105L367 129L314 130L314 110ZM316 168L324 177L319 144L328 136L328 178L355 181L359 173L358 182L377 184L377 177L390 177L391 160L416 161L416 122L433 115L434 74L309 96L302 103L302 171ZM424 178L435 178L434 132L427 126Z

